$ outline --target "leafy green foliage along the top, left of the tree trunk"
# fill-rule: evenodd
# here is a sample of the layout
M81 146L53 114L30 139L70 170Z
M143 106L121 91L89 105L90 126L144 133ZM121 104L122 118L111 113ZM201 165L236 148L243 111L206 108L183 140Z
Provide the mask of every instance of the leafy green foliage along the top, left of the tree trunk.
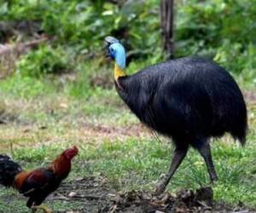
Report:
M126 43L145 56L160 44L156 2L143 2L141 7L133 0L119 8L107 1L21 0L3 3L0 13L4 20L41 21L44 32L58 43L72 44L79 53L96 52L103 37L114 35L129 38Z

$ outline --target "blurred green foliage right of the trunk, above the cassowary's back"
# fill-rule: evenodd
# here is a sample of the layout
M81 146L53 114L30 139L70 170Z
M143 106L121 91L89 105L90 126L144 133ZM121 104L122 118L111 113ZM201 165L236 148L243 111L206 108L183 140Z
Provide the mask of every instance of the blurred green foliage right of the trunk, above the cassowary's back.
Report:
M187 1L177 4L177 56L214 58L255 85L255 1Z

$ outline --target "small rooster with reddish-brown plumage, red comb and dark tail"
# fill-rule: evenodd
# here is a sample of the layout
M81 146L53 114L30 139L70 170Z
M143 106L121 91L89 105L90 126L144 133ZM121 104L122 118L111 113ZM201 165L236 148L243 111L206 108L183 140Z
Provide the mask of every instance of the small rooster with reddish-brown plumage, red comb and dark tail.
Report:
M0 184L4 187L14 187L27 197L26 206L31 208L32 212L38 209L50 212L40 204L67 178L71 161L78 153L79 149L74 146L61 153L49 167L32 171L22 170L9 156L0 155Z

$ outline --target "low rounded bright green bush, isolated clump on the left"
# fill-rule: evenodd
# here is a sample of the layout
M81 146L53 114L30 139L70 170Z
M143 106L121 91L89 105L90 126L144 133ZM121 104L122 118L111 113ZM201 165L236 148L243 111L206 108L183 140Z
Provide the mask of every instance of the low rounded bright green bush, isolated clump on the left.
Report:
M21 76L40 77L44 74L58 74L70 69L68 57L63 49L53 49L48 45L21 56L17 71Z

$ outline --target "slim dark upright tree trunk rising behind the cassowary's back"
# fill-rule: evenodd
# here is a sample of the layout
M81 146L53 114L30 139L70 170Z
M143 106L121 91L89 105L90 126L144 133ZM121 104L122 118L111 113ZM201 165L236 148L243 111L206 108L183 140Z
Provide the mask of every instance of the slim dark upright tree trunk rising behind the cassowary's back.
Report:
M161 0L160 2L162 45L170 59L174 57L173 2L174 0Z

